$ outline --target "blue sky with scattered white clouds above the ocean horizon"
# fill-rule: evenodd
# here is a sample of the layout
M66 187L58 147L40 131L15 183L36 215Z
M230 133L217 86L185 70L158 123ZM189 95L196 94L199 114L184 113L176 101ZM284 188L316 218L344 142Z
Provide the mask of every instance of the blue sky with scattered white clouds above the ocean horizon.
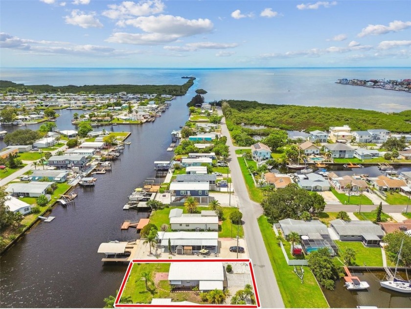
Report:
M409 67L411 1L1 0L1 67Z

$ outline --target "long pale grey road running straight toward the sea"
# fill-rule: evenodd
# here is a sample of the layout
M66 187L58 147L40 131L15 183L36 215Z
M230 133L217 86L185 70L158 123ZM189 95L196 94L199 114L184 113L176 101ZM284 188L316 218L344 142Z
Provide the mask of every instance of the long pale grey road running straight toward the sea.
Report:
M219 115L222 111L218 109ZM263 213L261 206L251 201L240 165L237 161L235 148L228 134L227 125L221 125L222 134L227 136L227 145L229 147L229 156L231 158L229 167L231 170L231 178L233 180L235 194L237 195L238 204L243 213L244 233L246 236L248 253L251 258L255 279L257 283L258 295L263 308L284 308L284 303L281 298L280 290L275 280L274 271L271 267L270 259L260 229L258 227L257 218Z

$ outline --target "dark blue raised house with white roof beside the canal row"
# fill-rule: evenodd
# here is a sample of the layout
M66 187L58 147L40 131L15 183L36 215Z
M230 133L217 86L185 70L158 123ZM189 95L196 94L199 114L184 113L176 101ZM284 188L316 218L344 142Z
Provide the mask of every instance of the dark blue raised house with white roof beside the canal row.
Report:
M195 197L200 204L208 205L210 184L208 182L171 182L171 202L184 202L188 196Z

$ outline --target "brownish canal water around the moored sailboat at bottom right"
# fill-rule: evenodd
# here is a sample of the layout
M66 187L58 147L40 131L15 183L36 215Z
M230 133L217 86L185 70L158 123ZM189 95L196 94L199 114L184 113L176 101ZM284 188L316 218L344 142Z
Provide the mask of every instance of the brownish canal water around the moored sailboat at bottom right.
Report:
M381 287L379 280L385 272L351 272L361 281L366 281L370 287L363 291L349 291L344 287L344 280L336 282L334 290L322 289L331 308L356 308L356 306L376 306L378 308L411 308L411 296ZM405 272L399 272L402 278L407 278ZM410 276L410 273L409 273Z

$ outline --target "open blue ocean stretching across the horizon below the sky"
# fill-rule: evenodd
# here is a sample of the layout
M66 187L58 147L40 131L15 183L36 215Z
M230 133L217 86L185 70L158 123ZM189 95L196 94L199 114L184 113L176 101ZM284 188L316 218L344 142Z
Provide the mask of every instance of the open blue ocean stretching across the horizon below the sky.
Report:
M411 109L411 93L336 84L337 79L411 79L411 68L268 68L268 69L138 69L138 68L1 68L1 80L25 85L49 84L183 84L195 76L194 89L206 101L255 100L268 104L333 106L382 112Z

